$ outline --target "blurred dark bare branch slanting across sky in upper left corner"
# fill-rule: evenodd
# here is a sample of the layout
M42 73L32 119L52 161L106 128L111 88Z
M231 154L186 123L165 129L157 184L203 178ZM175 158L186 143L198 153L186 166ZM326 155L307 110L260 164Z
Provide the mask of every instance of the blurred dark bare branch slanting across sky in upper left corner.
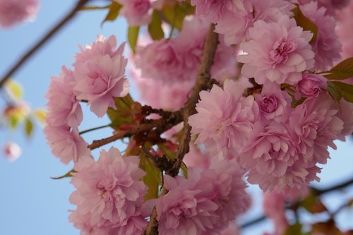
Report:
M50 38L52 38L56 32L58 32L64 25L66 25L66 23L68 23L72 18L73 16L76 15L77 11L85 6L85 4L88 3L88 1L90 0L79 0L78 3L76 4L76 6L74 6L72 8L71 11L69 11L67 13L67 15L62 19L60 20L59 23L57 23L54 28L52 28L51 30L49 30L49 32L47 32L46 35L44 35L44 37L42 37L42 39L37 42L37 44L35 44L35 46L33 46L32 48L30 48L28 50L28 52L26 52L18 61L17 63L8 70L8 72L1 78L0 80L0 88L2 88L4 86L4 84L6 83L6 80L8 80L12 75L13 73L15 73L18 68L20 68L24 63L25 61L27 61L28 59L30 59L30 57L35 54L35 52L37 52L38 49L40 49L40 47L42 47L45 42L47 42Z

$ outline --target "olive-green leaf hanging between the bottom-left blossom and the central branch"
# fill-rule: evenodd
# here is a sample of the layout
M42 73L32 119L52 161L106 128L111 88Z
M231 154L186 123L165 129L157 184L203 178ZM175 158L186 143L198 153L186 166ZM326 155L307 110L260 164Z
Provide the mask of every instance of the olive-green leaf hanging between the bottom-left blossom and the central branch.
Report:
M146 175L143 177L143 182L148 186L148 191L144 199L158 198L159 187L162 184L160 180L160 170L153 166L150 159L145 157L144 154L141 154L140 157L140 169L146 172Z

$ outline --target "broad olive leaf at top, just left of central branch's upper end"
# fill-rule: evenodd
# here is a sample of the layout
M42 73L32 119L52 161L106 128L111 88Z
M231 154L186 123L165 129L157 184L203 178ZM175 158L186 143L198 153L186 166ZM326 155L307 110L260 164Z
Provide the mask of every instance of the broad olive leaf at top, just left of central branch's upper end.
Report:
M162 20L169 23L172 28L181 30L183 28L184 18L192 15L195 12L195 7L189 2L176 3L174 6L164 6L162 8Z

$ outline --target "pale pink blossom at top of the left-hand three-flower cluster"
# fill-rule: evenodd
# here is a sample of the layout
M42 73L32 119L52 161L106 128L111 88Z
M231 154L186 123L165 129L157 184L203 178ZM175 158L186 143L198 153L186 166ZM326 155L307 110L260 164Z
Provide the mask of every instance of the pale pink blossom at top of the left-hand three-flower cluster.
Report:
M112 50L115 38L98 40L76 56L74 92L79 100L87 100L90 110L103 116L108 107L115 108L114 97L128 94L129 83L125 77L127 60L122 55L124 44Z

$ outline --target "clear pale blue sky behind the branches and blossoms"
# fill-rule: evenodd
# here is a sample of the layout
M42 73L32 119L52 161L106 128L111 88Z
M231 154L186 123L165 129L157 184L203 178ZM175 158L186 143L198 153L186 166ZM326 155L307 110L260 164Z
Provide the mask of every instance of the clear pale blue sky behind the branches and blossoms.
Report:
M16 25L8 30L0 28L0 74L3 75L23 52L35 44L44 32L52 28L52 25L71 9L74 2L76 1L41 1L40 12L34 23ZM44 107L46 102L44 94L47 92L49 78L57 76L62 65L68 67L71 65L79 44L90 44L97 34L106 37L114 34L119 43L126 40L124 19L116 20L114 23L108 22L100 27L106 13L107 11L79 13L13 76L23 84L25 100L28 100L32 107ZM4 107L2 101L1 107ZM109 123L106 118L97 119L87 110L84 115L85 119L80 130ZM110 135L110 131L88 133L84 138L90 142L104 135ZM30 140L26 140L20 130L16 132L0 130L0 145L2 146L6 140L19 143L23 155L16 162L8 162L2 156L2 152L0 153L0 234L79 234L67 219L68 210L74 208L68 203L68 197L74 190L68 183L69 179L54 181L49 178L66 173L72 169L72 165L65 166L52 156L39 126L36 126ZM352 141L337 145L339 150L333 152L332 159L325 165L320 175L322 187L353 176ZM97 151L94 154L97 155ZM252 187L251 191L257 191L256 187ZM353 188L350 188L349 195L353 197ZM342 203L342 196L336 193L325 200L335 208ZM260 201L256 200L254 207L251 215L258 215ZM342 214L340 226L353 228L352 212ZM270 228L270 225L265 227ZM260 234L260 229L263 229L263 226L247 229L244 234Z

